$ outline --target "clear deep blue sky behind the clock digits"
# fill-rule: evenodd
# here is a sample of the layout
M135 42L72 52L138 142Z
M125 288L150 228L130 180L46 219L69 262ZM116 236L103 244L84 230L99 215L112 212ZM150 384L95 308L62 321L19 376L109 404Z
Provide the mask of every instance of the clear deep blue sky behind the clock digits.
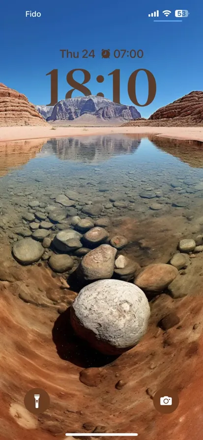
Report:
M199 4L198 4L199 3ZM202 3L202 2L201 2ZM87 0L87 1L28 1L14 0L1 4L0 22L0 82L24 93L34 104L50 103L50 76L58 69L58 100L72 88L66 83L71 69L90 72L87 84L92 94L103 92L113 99L112 76L120 69L120 102L133 105L128 97L130 74L139 68L150 70L157 83L154 101L147 107L137 107L148 117L157 108L189 93L203 90L203 3L191 1ZM182 23L154 23L148 13L169 9L188 9L190 15ZM26 18L26 11L41 12L40 18ZM61 57L60 49L79 51L79 59ZM94 49L95 57L82 58L82 50ZM124 57L101 58L101 49L142 49L142 59ZM96 82L103 75L102 84ZM83 80L82 73L74 77ZM147 81L144 73L137 80L137 98L144 104ZM73 96L79 96L74 92Z

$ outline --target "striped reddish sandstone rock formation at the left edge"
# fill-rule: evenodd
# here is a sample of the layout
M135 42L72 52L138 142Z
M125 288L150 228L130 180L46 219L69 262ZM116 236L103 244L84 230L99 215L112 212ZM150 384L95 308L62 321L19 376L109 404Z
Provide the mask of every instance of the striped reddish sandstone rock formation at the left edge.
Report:
M47 125L47 122L25 95L0 83L0 127L14 125Z

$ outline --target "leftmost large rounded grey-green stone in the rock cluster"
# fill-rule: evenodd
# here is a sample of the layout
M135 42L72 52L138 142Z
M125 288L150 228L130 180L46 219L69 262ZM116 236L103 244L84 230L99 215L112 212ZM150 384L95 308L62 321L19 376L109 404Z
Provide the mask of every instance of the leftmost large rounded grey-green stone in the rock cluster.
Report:
M15 243L13 255L22 264L31 264L38 261L44 253L41 243L32 238L25 238Z

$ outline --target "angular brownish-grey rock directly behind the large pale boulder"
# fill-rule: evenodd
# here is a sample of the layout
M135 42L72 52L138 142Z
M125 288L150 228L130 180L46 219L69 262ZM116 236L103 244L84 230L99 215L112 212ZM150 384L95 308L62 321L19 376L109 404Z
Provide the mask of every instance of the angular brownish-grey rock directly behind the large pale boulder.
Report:
M90 250L81 261L80 271L86 280L111 278L114 273L116 249L100 245Z

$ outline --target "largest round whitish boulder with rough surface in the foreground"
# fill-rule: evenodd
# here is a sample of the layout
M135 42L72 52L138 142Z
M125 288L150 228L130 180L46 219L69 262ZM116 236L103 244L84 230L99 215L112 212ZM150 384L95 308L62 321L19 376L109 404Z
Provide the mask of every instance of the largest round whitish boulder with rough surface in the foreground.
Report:
M71 306L71 324L96 350L117 355L135 346L147 329L150 308L137 286L114 279L84 287Z

